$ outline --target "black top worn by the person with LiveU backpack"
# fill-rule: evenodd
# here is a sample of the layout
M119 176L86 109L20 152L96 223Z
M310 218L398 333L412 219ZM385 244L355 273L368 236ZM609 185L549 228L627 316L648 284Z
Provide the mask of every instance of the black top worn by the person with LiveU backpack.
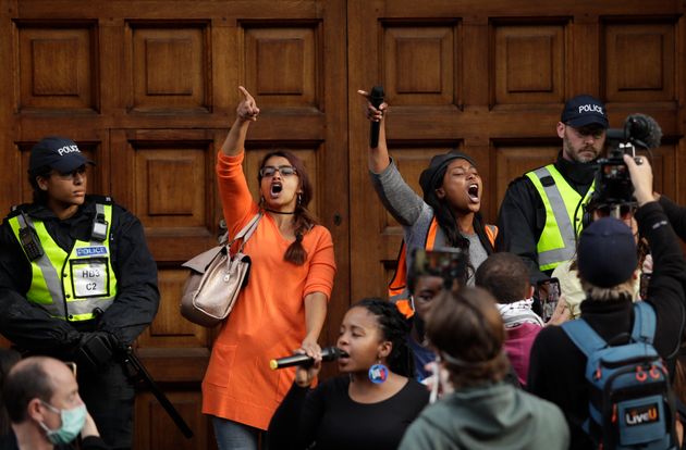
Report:
M638 209L636 220L641 236L650 243L653 274L648 299L657 314L654 348L667 361L674 373L685 321L684 282L686 262L672 226L658 202ZM602 255L599 255L602 258ZM634 323L630 300L596 301L581 303L581 318L607 341L620 345L628 339ZM553 403L565 413L572 432L572 449L590 448L590 439L581 430L588 417L589 383L585 378L586 357L559 326L541 330L531 348L528 389Z

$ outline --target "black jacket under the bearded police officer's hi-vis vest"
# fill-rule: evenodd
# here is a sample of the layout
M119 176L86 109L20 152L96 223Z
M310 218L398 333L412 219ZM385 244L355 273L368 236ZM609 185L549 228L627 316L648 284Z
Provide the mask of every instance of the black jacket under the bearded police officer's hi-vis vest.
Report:
M593 184L597 165L569 162L558 154L555 168L581 198ZM500 205L498 214L498 251L509 251L522 258L529 267L531 284L548 279L550 273L542 273L538 265L536 249L546 227L546 207L531 180L526 176L513 180ZM552 272L552 271L549 271Z

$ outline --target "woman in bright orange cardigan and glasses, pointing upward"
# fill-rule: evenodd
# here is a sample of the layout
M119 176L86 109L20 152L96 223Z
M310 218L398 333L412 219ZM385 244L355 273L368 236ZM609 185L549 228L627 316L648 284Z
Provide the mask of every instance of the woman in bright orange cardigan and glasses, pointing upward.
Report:
M248 284L222 324L203 380L203 412L212 415L220 450L257 449L294 378L293 370L271 371L269 360L298 348L319 351L335 274L331 234L307 211L313 188L297 157L265 157L261 198L253 200L242 162L259 109L238 89L243 100L218 155L219 192L230 236L260 210L264 216L244 248L253 261Z

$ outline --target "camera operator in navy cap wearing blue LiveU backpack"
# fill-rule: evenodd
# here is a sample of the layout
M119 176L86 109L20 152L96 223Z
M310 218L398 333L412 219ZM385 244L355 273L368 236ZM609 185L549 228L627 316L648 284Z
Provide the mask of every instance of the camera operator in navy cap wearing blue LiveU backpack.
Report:
M603 348L613 350L617 346L626 347L627 343L637 342L635 339L637 328L634 327L638 321L641 325L639 329L641 340L638 342L644 342L645 335L651 335L648 337L652 338L650 347L654 347L657 360L666 361L670 380L673 377L675 355L681 345L682 328L686 318L684 316L686 262L674 230L653 196L650 164L645 158L633 158L629 154L624 154L622 160L630 175L633 196L638 205L635 217L639 234L648 240L654 261L654 272L647 299L642 302L645 308L635 309L633 304L634 284L637 283L634 277L637 266L634 234L626 224L615 217L599 218L584 229L578 246L579 278L587 296L581 303L580 320L562 327L552 326L542 329L531 348L528 388L532 393L552 401L564 411L572 432L572 449L590 448L591 436L598 443L599 434L603 439L601 441L609 448L613 447L608 439L612 441L644 439L648 435L645 433L637 435L635 429L638 428L632 427L653 423L656 426L661 426L658 430L659 439L673 438L670 430L673 429L674 413L665 405L669 402L664 400L669 396L654 396L653 403L660 404L660 411L662 411L660 415L657 415L654 412L657 410L652 409L642 411L636 408L617 411L617 403L614 403L612 420L604 413L602 416L591 415L589 402L592 401L595 407L602 404L602 410L605 411L608 404L611 404L604 400L605 397L600 400L596 391L597 386L591 385L588 378L590 368L587 367L587 361L591 357L595 358L596 353L587 357L586 351L581 350L583 346L579 345L581 341L575 343L579 335L565 330L571 324L576 327L583 321L580 325L584 327L588 325L595 332L585 333L584 339L588 339L590 343L595 341L591 336L597 334L607 342ZM652 312L644 310L654 312L654 322L646 318ZM651 328L650 325L646 325L647 323L654 327ZM575 340L573 340L573 335L576 336ZM648 351L644 354L648 354ZM665 373L657 368L659 363L651 364L646 367L645 378L642 368L636 368L636 380L642 383L646 379L658 380L660 377L664 379ZM599 363L593 370L593 379L600 379L603 374L607 374L605 371ZM666 390L669 390L669 380L666 385ZM603 391L613 392L612 389ZM614 392L612 396L610 399L616 399ZM583 424L589 417L590 433L587 434ZM658 423L659 421L662 422ZM608 432L609 427L614 427L612 428L614 432Z

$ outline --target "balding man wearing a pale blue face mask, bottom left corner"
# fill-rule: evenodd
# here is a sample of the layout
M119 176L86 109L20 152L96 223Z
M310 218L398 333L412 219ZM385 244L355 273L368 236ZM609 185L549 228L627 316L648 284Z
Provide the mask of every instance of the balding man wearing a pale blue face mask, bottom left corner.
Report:
M15 437L3 449L110 448L78 396L74 373L61 361L48 357L20 361L7 375L2 396Z

